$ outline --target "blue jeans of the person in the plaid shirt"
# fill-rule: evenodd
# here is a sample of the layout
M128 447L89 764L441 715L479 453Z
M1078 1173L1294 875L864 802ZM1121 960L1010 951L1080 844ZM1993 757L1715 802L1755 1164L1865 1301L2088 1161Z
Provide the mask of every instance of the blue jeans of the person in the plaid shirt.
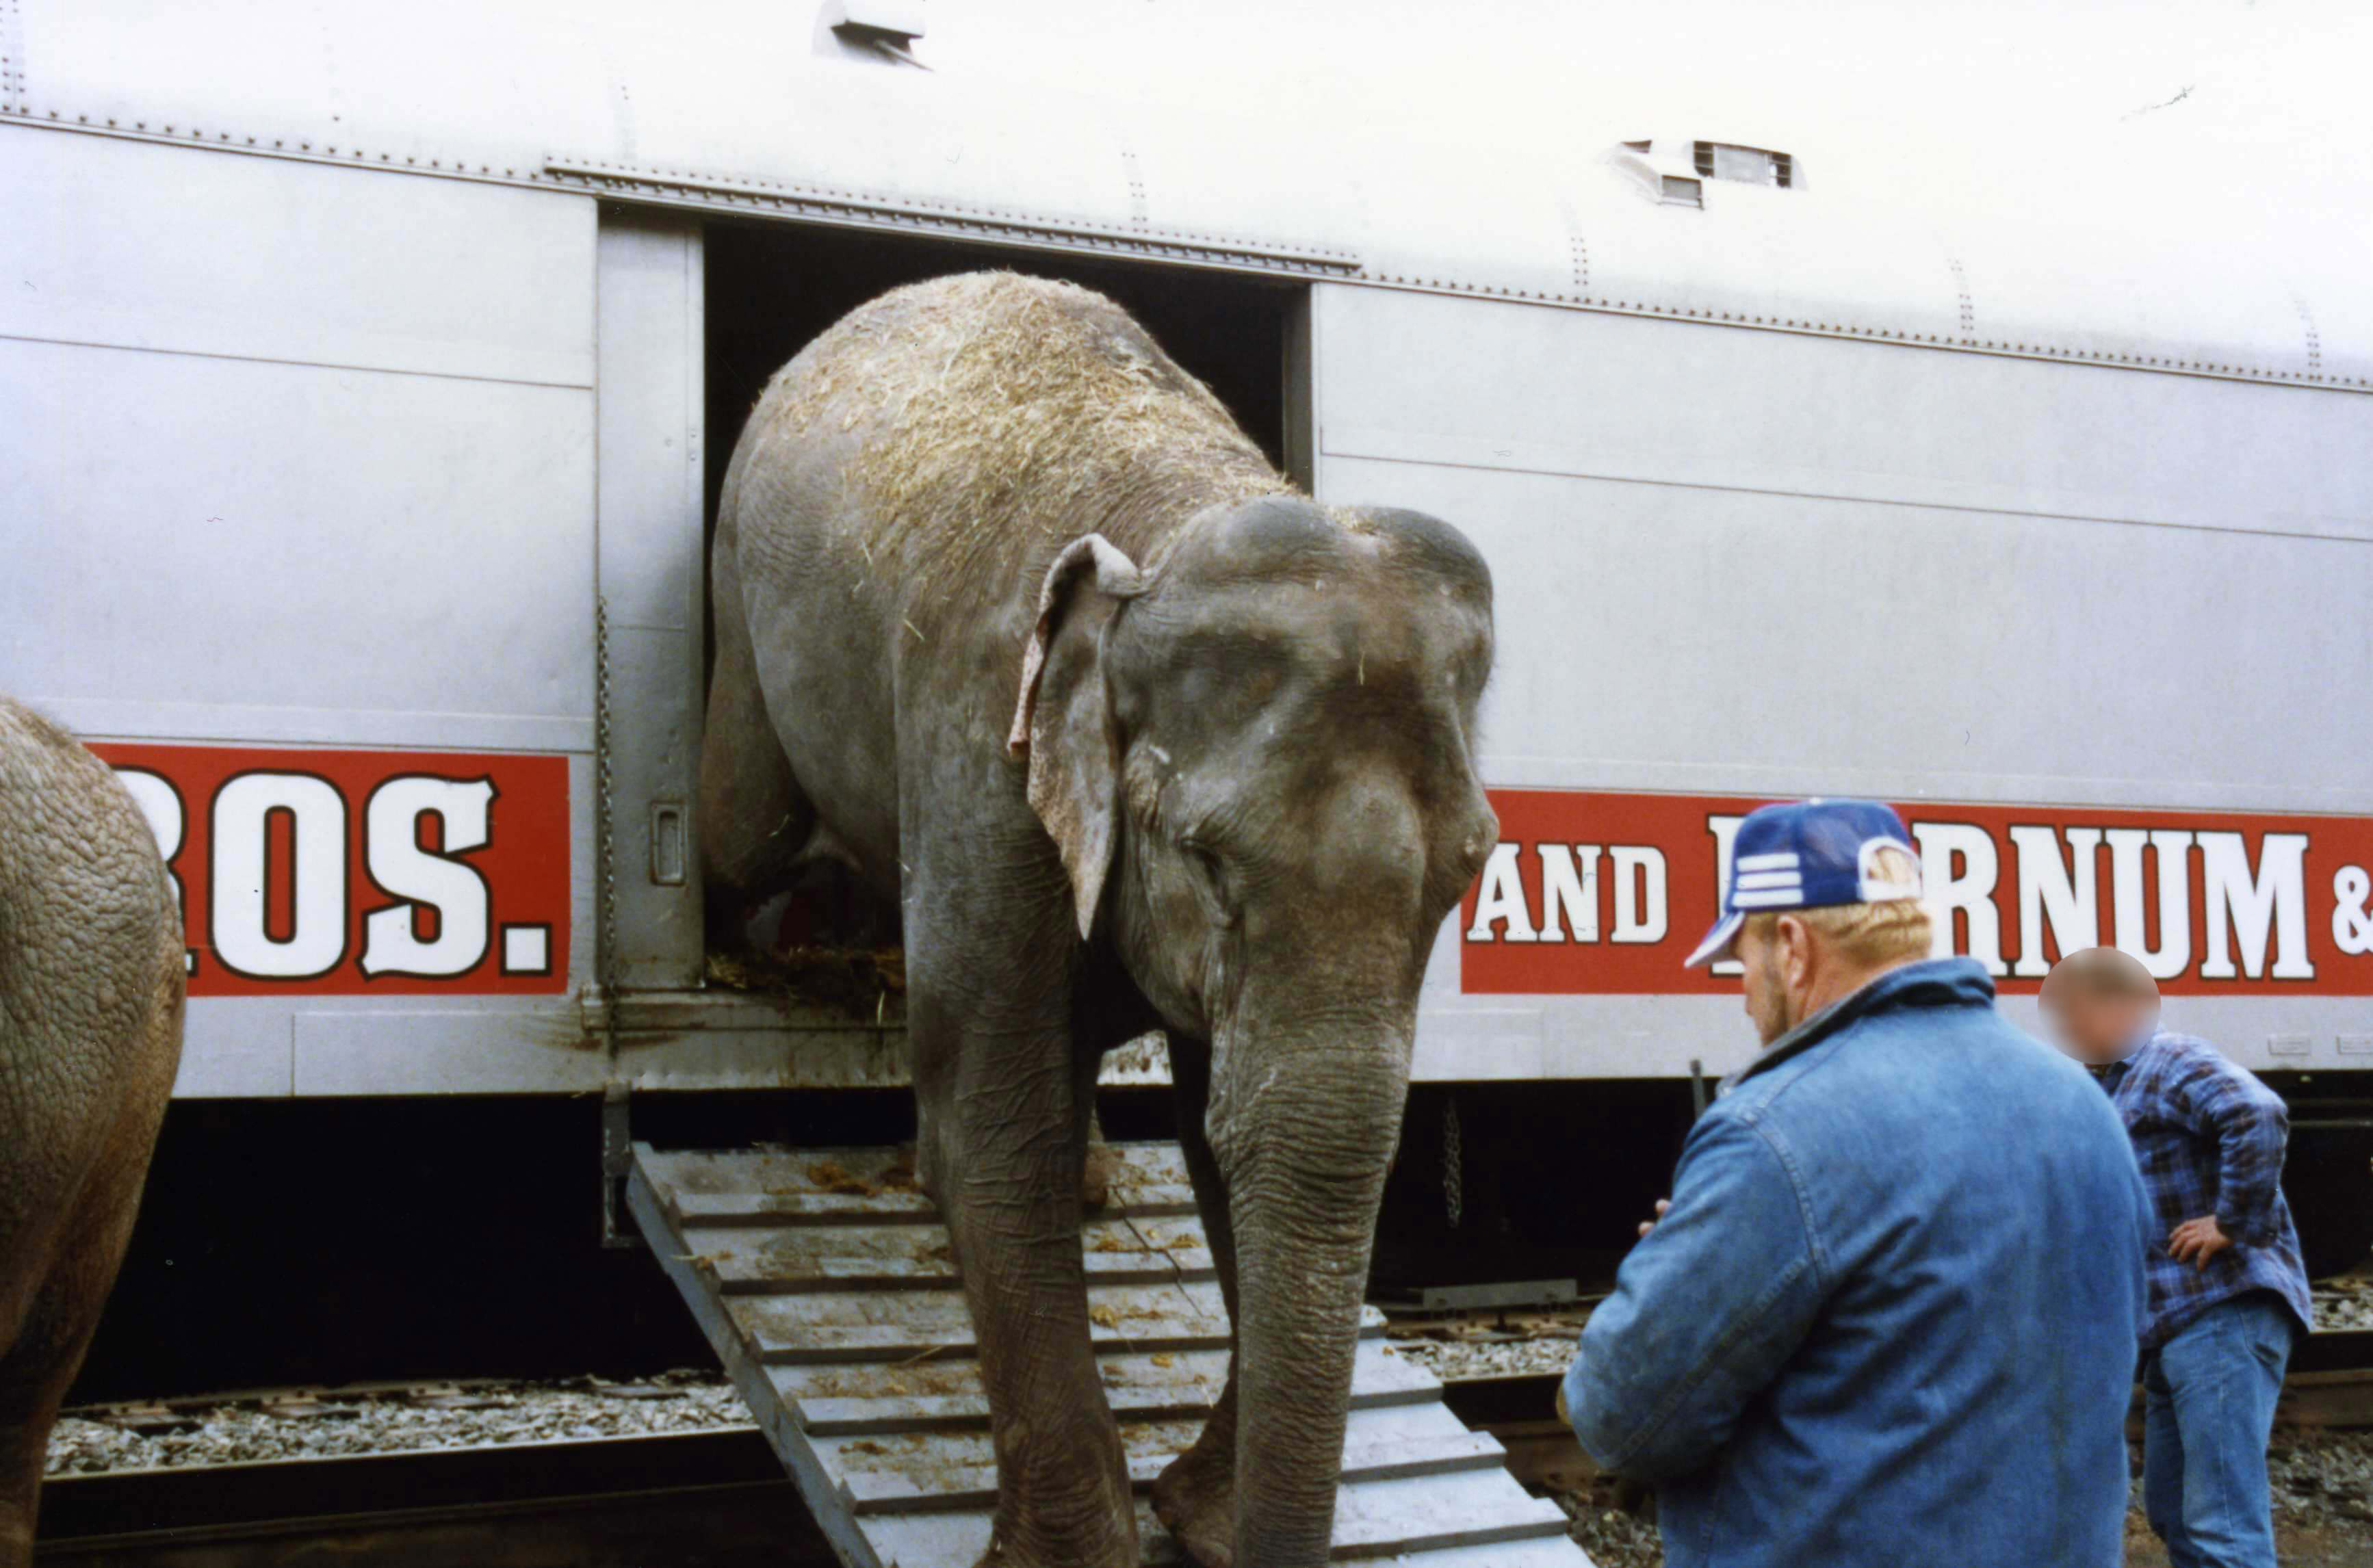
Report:
M2174 1568L2276 1568L2266 1438L2295 1333L2250 1290L2143 1357L2143 1511Z

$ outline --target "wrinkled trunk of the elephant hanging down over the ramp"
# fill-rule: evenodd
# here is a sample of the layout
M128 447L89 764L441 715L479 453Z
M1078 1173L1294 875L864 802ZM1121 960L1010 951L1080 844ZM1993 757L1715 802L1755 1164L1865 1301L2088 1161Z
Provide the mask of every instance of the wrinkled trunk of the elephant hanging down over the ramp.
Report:
M1317 1568L1410 1022L1236 1051L1215 1153L1236 1238L1236 1563Z

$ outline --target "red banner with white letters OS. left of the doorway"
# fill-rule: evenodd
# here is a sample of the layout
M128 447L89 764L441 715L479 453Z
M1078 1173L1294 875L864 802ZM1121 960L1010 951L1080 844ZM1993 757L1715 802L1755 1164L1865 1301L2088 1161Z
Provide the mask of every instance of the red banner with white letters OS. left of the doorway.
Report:
M192 996L567 989L565 757L90 750L173 871Z

